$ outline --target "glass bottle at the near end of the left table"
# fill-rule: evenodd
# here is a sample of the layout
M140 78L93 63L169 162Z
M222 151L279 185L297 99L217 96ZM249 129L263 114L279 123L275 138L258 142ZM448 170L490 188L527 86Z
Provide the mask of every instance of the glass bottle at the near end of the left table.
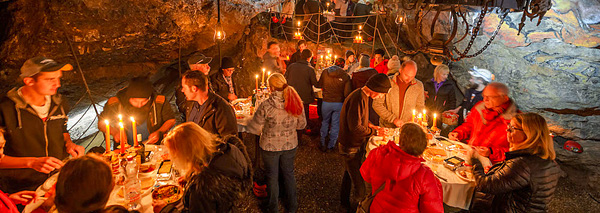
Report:
M127 157L127 166L125 167L125 185L123 192L125 194L125 201L130 211L140 210L142 200L142 184L138 178L139 164L136 161L135 156Z

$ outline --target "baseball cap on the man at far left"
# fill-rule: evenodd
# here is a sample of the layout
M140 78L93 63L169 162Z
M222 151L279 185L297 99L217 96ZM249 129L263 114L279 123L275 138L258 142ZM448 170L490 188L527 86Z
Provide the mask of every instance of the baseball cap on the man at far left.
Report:
M43 57L37 56L30 58L21 67L21 78L31 77L40 72L55 72L55 71L71 71L73 66L66 63L57 63L56 61Z

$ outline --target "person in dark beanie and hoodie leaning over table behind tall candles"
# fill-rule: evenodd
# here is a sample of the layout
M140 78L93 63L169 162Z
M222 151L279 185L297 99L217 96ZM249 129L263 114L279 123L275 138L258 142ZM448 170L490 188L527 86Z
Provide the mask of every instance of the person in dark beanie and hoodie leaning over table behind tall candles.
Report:
M128 133L127 142L130 145L133 144L133 134L129 117L135 119L137 133L142 135L142 140L148 140L149 144L160 142L162 135L175 124L171 105L166 101L165 96L154 91L152 83L146 77L131 79L129 86L117 92L115 97L109 98L104 105L104 111L98 120L98 129L105 132L104 120L109 120L110 133L116 143L120 143L119 114L123 116L123 125Z

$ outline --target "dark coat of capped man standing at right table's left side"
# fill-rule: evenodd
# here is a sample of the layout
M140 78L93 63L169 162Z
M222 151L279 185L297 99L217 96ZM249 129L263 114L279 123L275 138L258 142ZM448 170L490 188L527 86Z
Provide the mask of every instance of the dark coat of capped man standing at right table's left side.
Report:
M375 129L369 127L369 96L362 89L354 90L344 101L340 112L337 142L341 152L356 153L375 133Z

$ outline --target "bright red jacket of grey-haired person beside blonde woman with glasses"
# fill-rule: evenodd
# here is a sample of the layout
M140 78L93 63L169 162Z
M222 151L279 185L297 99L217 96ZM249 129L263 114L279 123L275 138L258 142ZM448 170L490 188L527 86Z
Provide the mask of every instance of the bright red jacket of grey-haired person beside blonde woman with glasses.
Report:
M504 160L504 153L509 149L506 138L507 125L510 123L510 119L519 113L519 110L510 100L504 113L493 119L484 118L489 117L487 112L483 101L480 101L473 106L467 120L453 132L458 133L459 140L468 139L471 146L488 147L491 151L490 160L492 163L497 163Z

